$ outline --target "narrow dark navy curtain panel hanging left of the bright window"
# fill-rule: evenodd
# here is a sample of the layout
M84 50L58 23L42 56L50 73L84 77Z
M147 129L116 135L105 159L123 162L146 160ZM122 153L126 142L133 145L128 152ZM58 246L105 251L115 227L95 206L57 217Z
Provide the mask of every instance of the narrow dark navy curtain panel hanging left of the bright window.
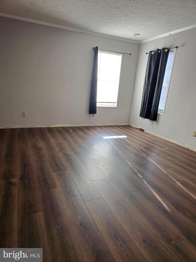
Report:
M91 82L91 96L89 114L96 114L97 112L97 67L98 67L98 46L94 48L94 63L92 69L92 82Z

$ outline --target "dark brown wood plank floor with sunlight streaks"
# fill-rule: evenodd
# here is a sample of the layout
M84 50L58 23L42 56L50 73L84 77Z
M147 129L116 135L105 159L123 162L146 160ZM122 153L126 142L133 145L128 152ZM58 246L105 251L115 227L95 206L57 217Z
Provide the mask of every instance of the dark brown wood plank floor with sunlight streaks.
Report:
M130 126L0 129L0 247L195 262L195 160Z

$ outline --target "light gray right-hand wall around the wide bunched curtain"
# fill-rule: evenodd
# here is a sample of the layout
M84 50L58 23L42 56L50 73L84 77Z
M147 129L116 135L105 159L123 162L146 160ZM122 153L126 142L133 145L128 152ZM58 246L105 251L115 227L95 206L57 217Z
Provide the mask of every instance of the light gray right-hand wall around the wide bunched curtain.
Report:
M141 127L180 144L196 148L196 28L140 45L138 65L132 97L130 124ZM158 115L157 121L139 116L142 90L148 55L146 52L162 47L178 45L171 76L168 99L164 115ZM187 147L188 147L187 146Z

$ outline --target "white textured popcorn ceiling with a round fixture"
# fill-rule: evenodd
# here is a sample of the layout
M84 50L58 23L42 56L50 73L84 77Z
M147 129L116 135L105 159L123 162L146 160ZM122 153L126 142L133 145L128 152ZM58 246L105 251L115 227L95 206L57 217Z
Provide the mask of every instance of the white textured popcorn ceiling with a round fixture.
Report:
M138 41L196 24L196 0L1 0L0 12Z

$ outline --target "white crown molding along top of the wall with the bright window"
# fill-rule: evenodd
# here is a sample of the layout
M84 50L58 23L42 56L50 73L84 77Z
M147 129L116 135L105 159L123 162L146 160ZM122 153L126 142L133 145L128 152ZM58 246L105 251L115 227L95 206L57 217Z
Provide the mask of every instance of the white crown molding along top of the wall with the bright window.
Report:
M20 16L16 16L16 15L12 15L12 14L0 13L0 17L1 17L1 16L2 16L2 17L6 17L6 18L17 19L17 20L21 20L21 21L25 21L25 22L40 24L40 25L52 26L52 27L56 27L56 28L60 28L60 29L69 30L69 31L74 31L74 32L79 32L79 33L85 33L85 34L94 35L94 36L99 36L99 37L111 38L111 39L115 39L115 40L119 40L119 41L124 41L124 42L129 42L129 43L133 43L133 44L139 44L139 41L134 41L134 40L130 40L130 39L126 39L126 38L121 38L121 37L115 37L115 36L111 36L111 35L105 35L105 34L101 34L101 33L96 33L96 32L92 32L92 31L87 31L87 30L83 30L83 29L78 29L78 28L74 28L74 27L69 27L69 26L65 26L65 25L52 24L52 23L48 23L48 22L44 22L44 21L39 21L39 20L31 19L31 18L20 17Z

